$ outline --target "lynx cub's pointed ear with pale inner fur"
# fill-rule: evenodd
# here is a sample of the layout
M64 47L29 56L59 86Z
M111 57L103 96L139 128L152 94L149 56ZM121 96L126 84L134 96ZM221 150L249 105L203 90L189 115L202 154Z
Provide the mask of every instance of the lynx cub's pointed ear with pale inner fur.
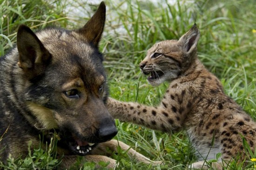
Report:
M179 41L182 44L182 49L185 52L192 52L196 46L198 39L200 37L200 32L196 25L192 26L187 33L182 35Z

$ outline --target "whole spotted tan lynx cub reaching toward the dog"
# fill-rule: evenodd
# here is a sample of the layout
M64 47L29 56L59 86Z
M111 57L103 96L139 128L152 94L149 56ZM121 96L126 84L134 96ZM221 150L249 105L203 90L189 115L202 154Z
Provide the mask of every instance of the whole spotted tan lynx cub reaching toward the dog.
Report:
M126 103L108 98L108 110L114 118L140 124L167 133L185 129L200 154L193 168L207 168L203 159L222 153L228 163L239 156L246 158L243 137L251 150L256 146L256 123L229 98L221 82L197 58L200 33L193 26L179 40L164 40L152 46L140 63L149 74L148 82L170 85L157 107ZM214 143L212 141L214 140ZM213 165L222 169L222 161Z

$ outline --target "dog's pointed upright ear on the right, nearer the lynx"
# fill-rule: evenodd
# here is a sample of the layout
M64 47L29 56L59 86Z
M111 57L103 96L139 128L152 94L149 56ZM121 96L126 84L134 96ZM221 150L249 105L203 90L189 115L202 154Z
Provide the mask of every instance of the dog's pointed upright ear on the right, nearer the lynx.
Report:
M85 26L77 30L77 32L83 36L83 39L85 39L86 42L93 43L94 46L98 47L105 25L105 18L106 6L102 1L92 18L88 20Z

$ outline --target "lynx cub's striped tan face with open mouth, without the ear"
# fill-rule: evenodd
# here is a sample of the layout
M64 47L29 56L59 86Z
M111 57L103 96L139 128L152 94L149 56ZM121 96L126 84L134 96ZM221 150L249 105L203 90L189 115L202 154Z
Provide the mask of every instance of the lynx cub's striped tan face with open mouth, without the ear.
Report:
M141 71L149 75L151 85L160 85L164 81L171 81L181 72L181 48L176 40L161 41L152 46L146 58L141 62Z

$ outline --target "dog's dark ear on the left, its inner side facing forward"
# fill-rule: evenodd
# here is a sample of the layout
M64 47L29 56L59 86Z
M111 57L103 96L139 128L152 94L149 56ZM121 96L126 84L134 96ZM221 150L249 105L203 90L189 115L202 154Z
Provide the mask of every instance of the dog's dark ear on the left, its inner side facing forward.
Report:
M51 54L44 47L35 33L27 26L21 25L17 33L19 52L18 65L28 78L34 78L44 72L51 59Z

